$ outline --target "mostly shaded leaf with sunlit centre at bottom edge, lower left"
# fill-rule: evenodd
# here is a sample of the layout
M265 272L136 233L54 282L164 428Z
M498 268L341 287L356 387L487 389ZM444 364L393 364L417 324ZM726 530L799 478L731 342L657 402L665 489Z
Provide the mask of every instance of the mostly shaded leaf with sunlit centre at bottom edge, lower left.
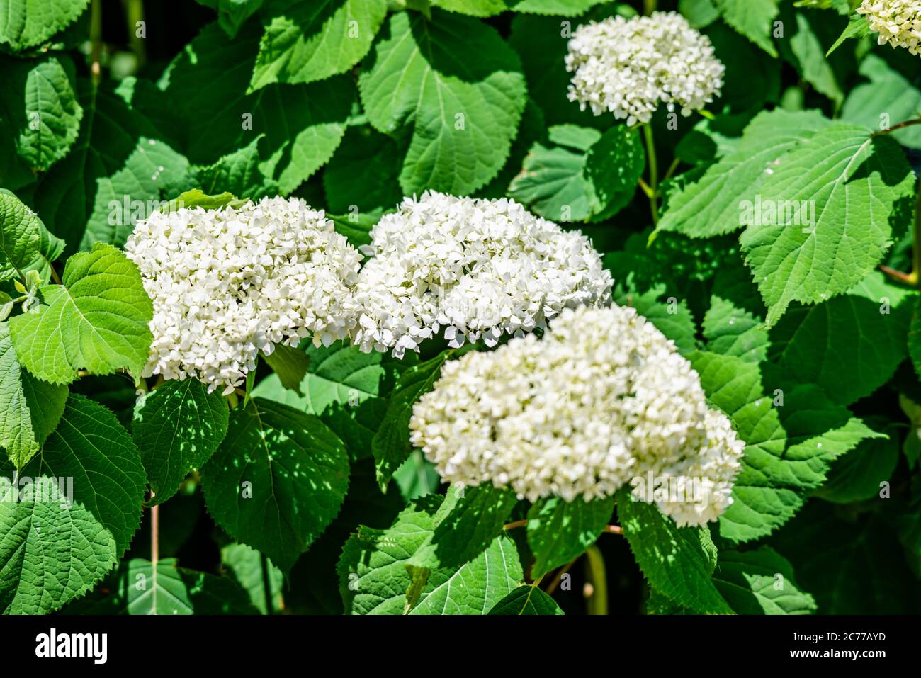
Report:
M256 614L239 584L179 567L176 558L132 558L104 590L67 608L72 614Z

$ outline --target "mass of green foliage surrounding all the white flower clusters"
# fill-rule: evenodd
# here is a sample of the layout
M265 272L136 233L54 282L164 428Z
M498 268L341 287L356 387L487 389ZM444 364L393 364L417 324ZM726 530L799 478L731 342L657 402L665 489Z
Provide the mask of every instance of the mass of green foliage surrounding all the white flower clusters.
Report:
M859 4L0 0L0 612L917 613L921 69ZM719 94L647 129L582 110L573 35L653 10L712 43ZM411 443L416 403L484 340L362 353L359 310L330 319L351 328L332 345L303 332L269 352L249 328L256 367L227 392L148 373L168 313L151 328L156 283L122 251L138 222L298 198L365 265L380 218L426 191L514 200L590 240L612 303L691 362L744 445L717 520L679 527L629 479L589 502L445 482L504 463L474 435L438 466ZM449 228L474 237L469 220ZM438 296L443 273L416 282ZM400 277L372 294L399 298ZM177 353L201 330L182 326ZM206 338L216 362L241 343ZM498 439L501 400L459 426Z

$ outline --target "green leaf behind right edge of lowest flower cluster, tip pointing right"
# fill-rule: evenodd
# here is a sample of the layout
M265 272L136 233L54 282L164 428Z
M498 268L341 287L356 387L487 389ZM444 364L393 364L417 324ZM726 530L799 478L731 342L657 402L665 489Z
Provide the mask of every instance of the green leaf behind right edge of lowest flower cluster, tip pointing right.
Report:
M882 435L816 386L784 390L763 383L758 363L712 353L698 353L692 363L707 399L747 443L733 503L719 518L720 536L731 542L773 532L822 485L835 458Z

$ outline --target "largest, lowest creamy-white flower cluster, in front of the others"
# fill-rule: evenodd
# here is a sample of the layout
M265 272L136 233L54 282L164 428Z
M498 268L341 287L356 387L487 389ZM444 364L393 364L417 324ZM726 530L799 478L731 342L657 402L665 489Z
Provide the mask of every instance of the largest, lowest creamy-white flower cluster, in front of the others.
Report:
M410 428L446 481L511 486L530 501L588 501L623 485L650 500L635 485L649 473L696 483L703 496L652 499L679 525L729 507L744 447L673 343L616 305L565 310L542 340L449 361Z

